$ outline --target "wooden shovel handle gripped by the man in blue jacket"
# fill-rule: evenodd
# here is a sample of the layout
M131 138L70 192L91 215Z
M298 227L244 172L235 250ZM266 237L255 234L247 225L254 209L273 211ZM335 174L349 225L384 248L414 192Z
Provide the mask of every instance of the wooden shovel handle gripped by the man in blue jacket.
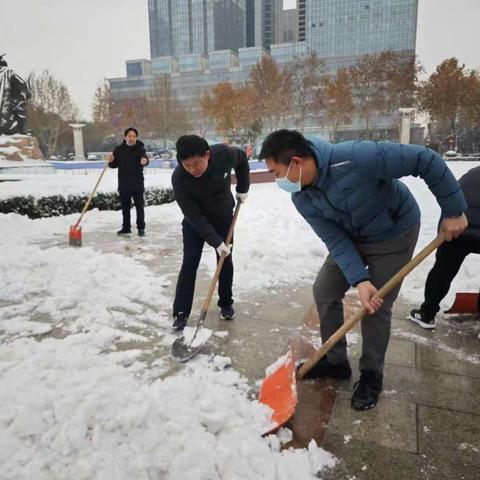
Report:
M445 241L445 234L441 232L438 237L429 243L418 255L410 260L399 272L397 272L375 295L384 298L388 295L415 267L434 252ZM337 344L365 315L367 311L362 308L350 317L313 355L305 362L297 372L297 378L302 379L326 353ZM321 320L320 320L321 321Z

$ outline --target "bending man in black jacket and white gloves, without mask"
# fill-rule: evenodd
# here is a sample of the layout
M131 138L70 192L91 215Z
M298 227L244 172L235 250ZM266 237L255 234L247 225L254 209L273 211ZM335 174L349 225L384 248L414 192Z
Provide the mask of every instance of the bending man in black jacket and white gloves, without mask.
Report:
M218 306L223 320L235 317L231 245L224 243L235 206L231 171L233 168L237 176L239 202L247 199L250 174L247 156L239 148L223 144L210 147L197 135L180 137L176 147L178 166L172 175L172 185L184 219L183 263L173 304L173 328L183 330L192 310L197 268L205 242L215 248L217 261L223 252L227 255L219 278Z

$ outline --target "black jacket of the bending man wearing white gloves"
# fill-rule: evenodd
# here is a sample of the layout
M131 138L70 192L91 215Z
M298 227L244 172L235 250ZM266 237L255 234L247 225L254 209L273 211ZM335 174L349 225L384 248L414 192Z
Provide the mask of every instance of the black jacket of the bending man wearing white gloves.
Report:
M231 192L231 172L237 176L237 192L246 193L250 188L250 167L247 155L236 147L218 144L210 147L211 157L207 171L200 178L190 175L179 162L172 175L175 199L185 221L217 248L223 239L215 231L215 225L231 219L235 200Z

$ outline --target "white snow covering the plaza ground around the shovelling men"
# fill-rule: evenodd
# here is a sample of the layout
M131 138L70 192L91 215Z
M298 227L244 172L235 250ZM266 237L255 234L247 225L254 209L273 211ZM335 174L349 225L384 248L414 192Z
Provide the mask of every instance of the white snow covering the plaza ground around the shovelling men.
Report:
M458 177L474 164L450 166ZM147 175L147 184L168 185L168 176L158 175ZM45 177L0 183L0 197L11 196L11 189L78 193L95 180ZM406 183L423 213L421 248L435 236L439 210L420 180ZM114 175L104 188L115 189ZM66 244L74 218L0 215L2 480L303 480L333 464L313 443L308 450L280 451L278 437L262 439L267 412L249 399L243 378L222 368L228 361L200 356L170 374L158 355L175 338L169 333L172 299L162 288L170 280L122 253L58 246L59 236ZM165 246L172 235L180 239L176 204L149 207L147 220ZM84 235L105 225L113 230L118 222L119 212L90 212ZM326 254L274 184L252 186L235 244L236 291L245 298L279 283L312 280ZM210 250L202 260L209 272ZM478 289L479 260L468 259L452 291ZM432 261L404 284L402 295L412 304L422 299ZM143 348L121 347L128 342Z

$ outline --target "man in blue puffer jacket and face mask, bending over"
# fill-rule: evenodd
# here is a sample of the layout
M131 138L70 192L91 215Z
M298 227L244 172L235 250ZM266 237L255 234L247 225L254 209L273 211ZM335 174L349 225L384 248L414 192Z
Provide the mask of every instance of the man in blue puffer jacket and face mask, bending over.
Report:
M352 407L373 408L383 387L392 305L400 286L383 301L374 298L412 257L420 228L420 209L398 179L421 177L442 209L446 238L467 227L467 204L458 182L434 151L415 145L355 141L336 145L307 141L299 132L279 130L264 141L266 160L282 189L328 248L313 286L325 342L343 324L342 299L357 287L369 315L362 320L360 380ZM315 377L348 379L343 338L311 372Z

